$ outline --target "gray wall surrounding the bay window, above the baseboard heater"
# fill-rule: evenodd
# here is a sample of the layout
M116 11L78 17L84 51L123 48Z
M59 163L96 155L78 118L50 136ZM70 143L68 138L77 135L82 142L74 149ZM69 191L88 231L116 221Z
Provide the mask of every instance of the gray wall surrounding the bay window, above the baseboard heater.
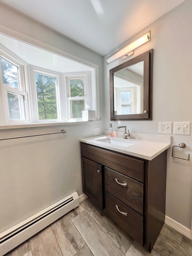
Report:
M0 4L0 25L98 65L103 109L103 62L98 54ZM0 232L77 191L82 192L79 138L94 135L95 124L0 130L0 137L57 132L65 134L0 142Z

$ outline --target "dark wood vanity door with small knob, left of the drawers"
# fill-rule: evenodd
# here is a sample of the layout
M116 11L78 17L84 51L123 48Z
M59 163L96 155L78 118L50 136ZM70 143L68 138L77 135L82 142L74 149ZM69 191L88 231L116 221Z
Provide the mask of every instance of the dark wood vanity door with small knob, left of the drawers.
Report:
M103 209L102 168L90 159L81 157L83 192L100 209Z

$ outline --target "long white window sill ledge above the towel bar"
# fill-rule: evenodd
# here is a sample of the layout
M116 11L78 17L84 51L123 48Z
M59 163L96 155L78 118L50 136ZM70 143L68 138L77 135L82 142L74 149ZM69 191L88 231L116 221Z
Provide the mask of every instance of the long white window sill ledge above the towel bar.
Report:
M15 124L15 125L0 125L0 130L4 129L17 129L17 128L30 128L30 127L43 127L43 126L57 126L57 125L73 125L73 124L93 124L101 123L97 121L74 121L74 122L58 122L58 123L34 123L34 124Z

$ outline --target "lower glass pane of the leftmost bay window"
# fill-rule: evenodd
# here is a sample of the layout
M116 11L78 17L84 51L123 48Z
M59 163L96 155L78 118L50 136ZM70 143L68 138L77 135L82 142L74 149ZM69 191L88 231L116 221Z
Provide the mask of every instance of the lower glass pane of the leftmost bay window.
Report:
M7 92L10 120L25 120L24 96Z

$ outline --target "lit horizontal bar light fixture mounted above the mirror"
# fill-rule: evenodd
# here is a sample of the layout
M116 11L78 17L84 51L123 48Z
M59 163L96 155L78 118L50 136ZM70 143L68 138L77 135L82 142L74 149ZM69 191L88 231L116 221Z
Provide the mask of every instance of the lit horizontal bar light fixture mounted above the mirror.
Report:
M137 38L132 43L125 46L120 51L116 52L115 54L111 55L107 58L107 64L111 63L114 60L117 60L122 57L122 59L127 58L128 56L133 55L133 50L137 49L139 46L151 41L151 30L149 30L144 35Z

